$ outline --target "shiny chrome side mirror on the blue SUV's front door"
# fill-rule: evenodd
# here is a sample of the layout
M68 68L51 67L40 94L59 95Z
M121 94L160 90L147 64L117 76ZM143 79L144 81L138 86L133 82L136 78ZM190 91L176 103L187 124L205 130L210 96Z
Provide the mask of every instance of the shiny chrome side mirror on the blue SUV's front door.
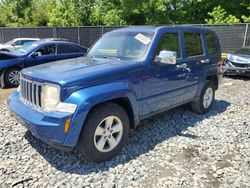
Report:
M176 52L163 50L156 56L155 62L163 64L176 64Z

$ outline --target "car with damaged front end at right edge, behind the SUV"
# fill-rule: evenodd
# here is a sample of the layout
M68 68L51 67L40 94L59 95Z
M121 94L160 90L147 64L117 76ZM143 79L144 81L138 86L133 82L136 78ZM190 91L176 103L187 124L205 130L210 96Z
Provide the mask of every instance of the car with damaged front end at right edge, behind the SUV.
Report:
M250 76L250 46L242 47L227 54L223 61L224 75Z

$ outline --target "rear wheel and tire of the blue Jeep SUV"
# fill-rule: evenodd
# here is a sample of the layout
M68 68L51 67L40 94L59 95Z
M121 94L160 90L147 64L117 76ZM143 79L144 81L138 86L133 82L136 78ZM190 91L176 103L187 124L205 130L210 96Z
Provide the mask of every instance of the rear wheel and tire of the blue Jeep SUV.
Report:
M191 104L192 110L198 114L207 113L214 103L214 95L215 85L211 81L206 81L198 100Z

